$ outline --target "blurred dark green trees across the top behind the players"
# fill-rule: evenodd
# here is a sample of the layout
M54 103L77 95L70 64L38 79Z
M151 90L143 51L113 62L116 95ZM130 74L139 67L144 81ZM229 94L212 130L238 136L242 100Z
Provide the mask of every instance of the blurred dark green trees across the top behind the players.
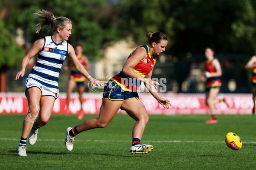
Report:
M49 35L35 33L37 10L72 20L68 42L81 42L89 59L102 57L102 49L132 37L146 43L146 31L161 31L169 38L167 59L182 60L186 53L246 53L256 48L255 0L0 0L0 69L20 68L25 50L15 46L17 28L25 44Z

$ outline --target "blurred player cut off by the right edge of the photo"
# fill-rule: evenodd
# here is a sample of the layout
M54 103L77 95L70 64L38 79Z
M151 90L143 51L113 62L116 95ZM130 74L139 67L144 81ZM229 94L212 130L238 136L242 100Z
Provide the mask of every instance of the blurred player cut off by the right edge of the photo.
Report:
M246 69L253 68L253 76L252 76L252 93L253 93L253 111L255 114L255 100L256 100L256 56L253 56L245 65Z

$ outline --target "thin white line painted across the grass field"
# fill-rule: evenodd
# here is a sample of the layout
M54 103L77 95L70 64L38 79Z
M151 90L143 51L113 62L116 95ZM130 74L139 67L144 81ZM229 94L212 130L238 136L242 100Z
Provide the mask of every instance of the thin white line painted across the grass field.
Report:
M12 138L0 138L2 141L19 141L20 139ZM49 142L64 142L64 139L38 139L38 141L49 141ZM131 142L125 140L75 140L76 142ZM147 142L157 142L157 143L225 143L225 141L147 141ZM256 144L256 142L246 142L248 144Z

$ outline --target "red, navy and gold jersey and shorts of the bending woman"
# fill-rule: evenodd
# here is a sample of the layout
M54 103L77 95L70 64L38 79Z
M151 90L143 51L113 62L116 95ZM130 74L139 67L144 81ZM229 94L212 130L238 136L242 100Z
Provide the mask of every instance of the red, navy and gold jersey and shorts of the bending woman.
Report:
M140 76L146 77L154 67L155 56L151 56L149 53L148 45L143 45L137 48L145 49L146 56L133 68L133 70ZM136 49L134 49L134 51ZM131 52L129 57L131 57L134 51ZM140 85L141 81L128 77L121 71L105 85L103 99L126 100L130 98L139 98L137 91L139 90Z

